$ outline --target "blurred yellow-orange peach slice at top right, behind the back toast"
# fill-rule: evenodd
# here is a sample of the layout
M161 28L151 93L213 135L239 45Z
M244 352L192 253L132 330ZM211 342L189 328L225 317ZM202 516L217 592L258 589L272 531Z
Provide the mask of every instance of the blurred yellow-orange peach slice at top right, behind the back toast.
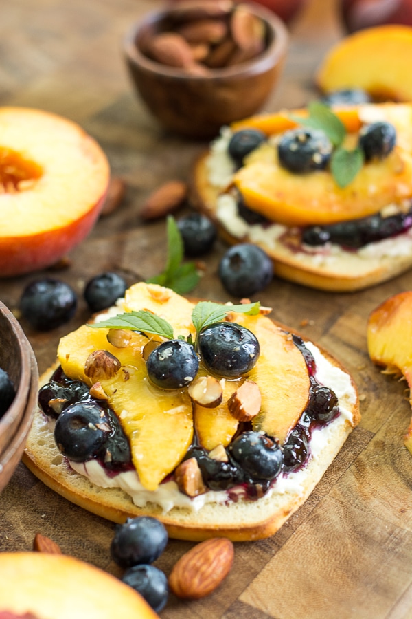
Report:
M315 80L323 92L362 88L377 100L411 101L411 56L410 26L365 28L330 49Z

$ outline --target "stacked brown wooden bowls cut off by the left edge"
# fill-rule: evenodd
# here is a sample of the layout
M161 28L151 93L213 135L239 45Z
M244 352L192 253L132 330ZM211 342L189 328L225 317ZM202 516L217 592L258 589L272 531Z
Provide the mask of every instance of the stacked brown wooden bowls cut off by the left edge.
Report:
M0 367L8 372L16 395L0 420L0 491L8 484L23 453L38 393L38 369L19 321L0 301Z

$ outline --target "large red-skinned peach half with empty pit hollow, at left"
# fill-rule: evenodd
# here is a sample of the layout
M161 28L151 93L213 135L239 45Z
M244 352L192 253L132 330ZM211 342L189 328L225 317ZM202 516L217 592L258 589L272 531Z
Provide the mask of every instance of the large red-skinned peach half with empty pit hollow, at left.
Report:
M0 276L44 268L80 243L109 176L106 155L74 122L0 108Z

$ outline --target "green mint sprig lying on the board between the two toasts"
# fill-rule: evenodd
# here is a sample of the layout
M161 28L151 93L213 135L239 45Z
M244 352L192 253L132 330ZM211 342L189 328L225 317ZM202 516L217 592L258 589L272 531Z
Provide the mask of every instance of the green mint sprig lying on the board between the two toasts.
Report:
M146 279L146 283L157 283L172 288L178 294L185 294L194 289L200 276L194 262L183 263L183 239L172 215L167 219L168 254L165 270L159 275Z

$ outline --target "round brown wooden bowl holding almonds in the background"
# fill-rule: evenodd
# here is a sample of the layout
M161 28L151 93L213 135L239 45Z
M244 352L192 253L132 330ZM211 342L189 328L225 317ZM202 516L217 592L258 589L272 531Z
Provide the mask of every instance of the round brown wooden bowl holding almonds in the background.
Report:
M198 4L204 6L205 0L181 2L133 24L124 39L124 58L137 93L165 129L188 138L209 139L223 125L262 108L282 72L288 30L273 12L251 3L249 11L264 23L265 47L249 61L198 75L144 54L154 34L176 23L177 11Z

